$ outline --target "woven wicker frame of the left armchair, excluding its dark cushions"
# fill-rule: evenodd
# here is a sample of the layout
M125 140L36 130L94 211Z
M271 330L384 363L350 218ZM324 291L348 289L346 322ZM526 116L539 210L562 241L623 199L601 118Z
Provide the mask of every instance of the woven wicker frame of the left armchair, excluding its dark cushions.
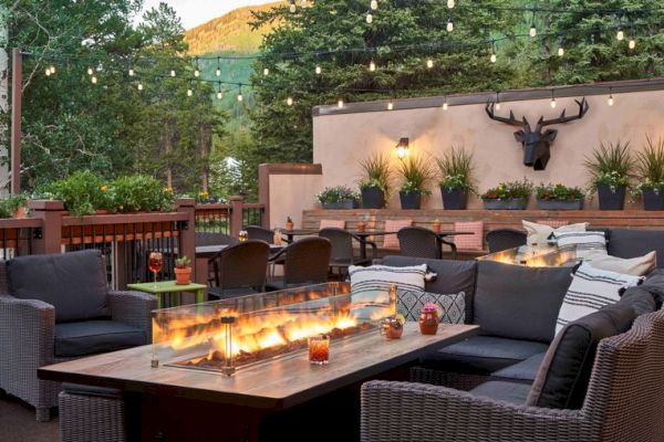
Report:
M82 253L82 252L72 252ZM39 269L35 269L39 275ZM152 340L153 295L138 292L107 292L111 319L143 330ZM0 264L0 389L33 406L38 421L50 420L58 406L59 382L40 380L37 369L75 357L55 356L55 307L43 301L10 294L6 264ZM79 356L80 357L80 356Z

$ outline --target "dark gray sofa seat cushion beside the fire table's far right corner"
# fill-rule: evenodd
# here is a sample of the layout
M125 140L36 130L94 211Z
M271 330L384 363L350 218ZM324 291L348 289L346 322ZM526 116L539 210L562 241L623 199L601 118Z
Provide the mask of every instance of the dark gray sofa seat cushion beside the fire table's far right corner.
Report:
M488 375L544 352L547 347L546 344L529 340L474 336L427 355L424 364L446 371Z

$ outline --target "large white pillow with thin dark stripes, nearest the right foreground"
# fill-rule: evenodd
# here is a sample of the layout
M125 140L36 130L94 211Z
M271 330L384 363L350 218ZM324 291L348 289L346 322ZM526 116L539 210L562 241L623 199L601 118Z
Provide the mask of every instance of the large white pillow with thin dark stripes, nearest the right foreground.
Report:
M643 277L594 269L581 263L558 313L556 334L566 325L620 301L623 288L641 284Z

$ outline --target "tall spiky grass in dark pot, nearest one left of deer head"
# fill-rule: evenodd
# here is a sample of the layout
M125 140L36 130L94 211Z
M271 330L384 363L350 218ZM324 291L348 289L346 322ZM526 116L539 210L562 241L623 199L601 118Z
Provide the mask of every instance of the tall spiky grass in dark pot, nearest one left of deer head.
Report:
M442 158L437 158L440 170L440 194L443 208L446 210L464 210L468 193L475 192L470 175L473 172L473 154L464 147L452 148Z

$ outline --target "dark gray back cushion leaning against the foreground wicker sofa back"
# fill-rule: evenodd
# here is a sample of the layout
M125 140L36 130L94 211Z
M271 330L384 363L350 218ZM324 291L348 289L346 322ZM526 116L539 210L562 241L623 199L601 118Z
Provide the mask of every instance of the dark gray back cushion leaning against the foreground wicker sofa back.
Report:
M627 304L613 304L568 324L540 366L527 406L579 409L601 339L625 333L636 317Z

